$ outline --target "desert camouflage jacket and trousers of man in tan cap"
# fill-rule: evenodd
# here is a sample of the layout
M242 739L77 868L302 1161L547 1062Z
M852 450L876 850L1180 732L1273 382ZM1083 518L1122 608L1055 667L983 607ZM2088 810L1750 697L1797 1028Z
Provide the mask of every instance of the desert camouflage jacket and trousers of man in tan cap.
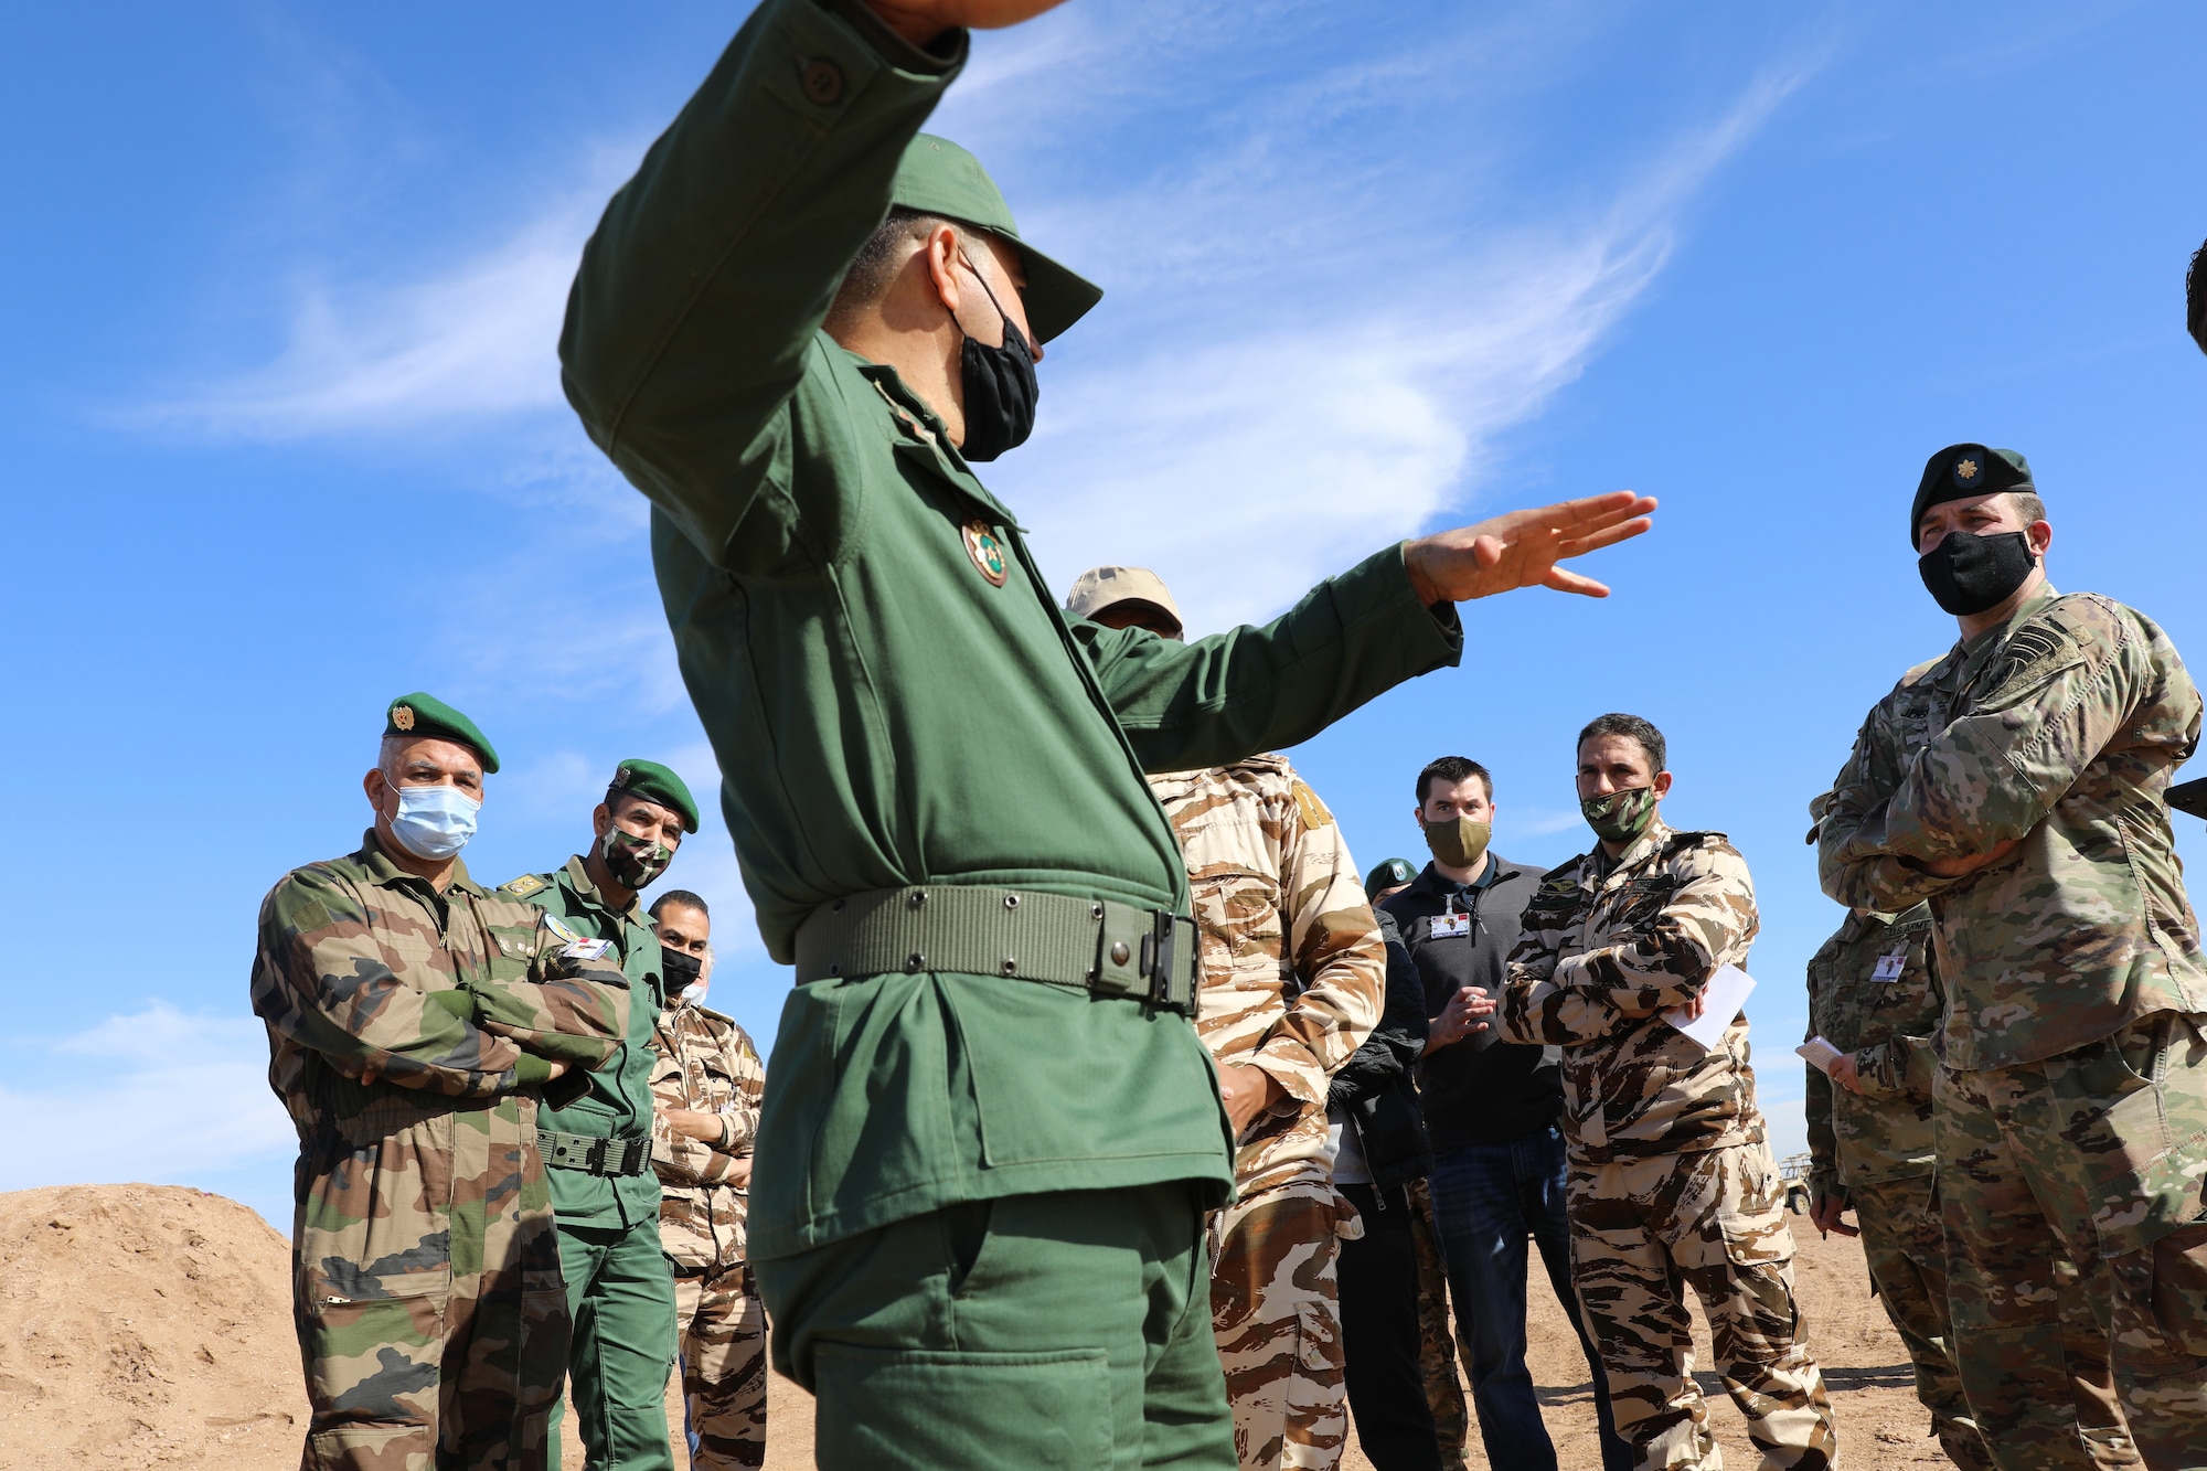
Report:
M1284 1089L1234 1157L1212 1221L1212 1330L1245 1471L1324 1471L1348 1433L1326 1084L1379 1025L1386 945L1348 844L1287 758L1154 775L1187 859L1203 943L1196 1031L1218 1065Z

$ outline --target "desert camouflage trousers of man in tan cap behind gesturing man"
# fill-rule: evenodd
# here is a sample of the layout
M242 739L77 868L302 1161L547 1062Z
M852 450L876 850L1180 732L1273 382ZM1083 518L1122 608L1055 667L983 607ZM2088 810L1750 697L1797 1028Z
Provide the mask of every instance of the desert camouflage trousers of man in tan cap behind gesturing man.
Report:
M1324 1182L1258 1190L1212 1217L1212 1334L1243 1471L1331 1471L1342 1460L1335 1241L1362 1230Z

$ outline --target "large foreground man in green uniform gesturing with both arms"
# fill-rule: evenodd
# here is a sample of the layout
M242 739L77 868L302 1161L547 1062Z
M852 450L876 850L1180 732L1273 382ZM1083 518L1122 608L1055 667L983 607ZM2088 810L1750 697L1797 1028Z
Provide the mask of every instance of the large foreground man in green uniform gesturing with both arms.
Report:
M1099 298L918 135L969 20L764 0L607 208L561 364L653 504L768 954L750 1259L828 1467L1232 1467L1201 1224L1232 1186L1194 928L1143 771L1450 665L1454 603L1598 585L1618 493L1388 546L1276 623L1066 618L973 464ZM1134 433L1134 426L1130 426Z

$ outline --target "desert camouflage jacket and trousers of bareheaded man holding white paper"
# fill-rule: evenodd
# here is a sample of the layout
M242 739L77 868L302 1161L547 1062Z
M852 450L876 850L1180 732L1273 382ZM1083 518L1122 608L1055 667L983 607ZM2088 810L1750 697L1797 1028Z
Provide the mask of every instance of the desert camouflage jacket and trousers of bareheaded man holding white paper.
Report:
M1618 1436L1640 1467L1715 1467L1686 1285L1766 1467L1832 1464L1823 1376L1801 1341L1785 1190L1763 1142L1748 1020L1710 1051L1657 1012L1744 965L1755 886L1721 833L1662 822L1609 861L1549 872L1525 906L1501 1036L1563 1047L1571 1259Z

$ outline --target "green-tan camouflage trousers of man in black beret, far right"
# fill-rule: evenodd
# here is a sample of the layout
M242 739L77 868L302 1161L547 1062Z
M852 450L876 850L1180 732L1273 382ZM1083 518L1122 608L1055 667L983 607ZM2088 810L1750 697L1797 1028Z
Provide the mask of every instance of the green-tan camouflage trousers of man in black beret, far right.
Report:
M2156 1471L2207 1467L2207 1038L2161 1012L2044 1062L1933 1084L1955 1361L1997 1464L2083 1464L2059 1261ZM2090 1447L2086 1447L2090 1453Z

